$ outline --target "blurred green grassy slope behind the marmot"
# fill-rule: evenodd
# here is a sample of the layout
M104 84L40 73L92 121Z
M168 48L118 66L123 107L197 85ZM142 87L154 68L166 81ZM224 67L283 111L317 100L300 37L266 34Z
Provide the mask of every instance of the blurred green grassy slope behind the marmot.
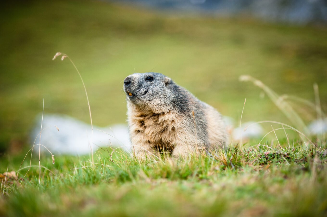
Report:
M123 79L155 71L171 77L223 115L239 121L290 123L249 74L279 94L314 102L319 85L327 108L327 28L172 13L101 1L6 2L1 9L0 148L28 145L35 116L60 113L93 123L125 123ZM306 122L315 111L294 104ZM270 125L268 126L270 128ZM9 149L8 149L9 148Z

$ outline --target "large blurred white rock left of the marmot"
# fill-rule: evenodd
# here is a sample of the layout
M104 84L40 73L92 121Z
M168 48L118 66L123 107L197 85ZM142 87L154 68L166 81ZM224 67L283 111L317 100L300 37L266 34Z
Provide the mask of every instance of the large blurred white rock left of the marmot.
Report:
M41 118L37 117L37 124L31 133L31 144L39 144ZM44 115L41 144L53 154L88 154L91 151L91 125L66 115ZM57 126L57 128L55 127ZM122 147L130 150L129 133L126 125L113 125L101 128L93 126L93 151L98 147ZM43 151L45 149L43 148Z

